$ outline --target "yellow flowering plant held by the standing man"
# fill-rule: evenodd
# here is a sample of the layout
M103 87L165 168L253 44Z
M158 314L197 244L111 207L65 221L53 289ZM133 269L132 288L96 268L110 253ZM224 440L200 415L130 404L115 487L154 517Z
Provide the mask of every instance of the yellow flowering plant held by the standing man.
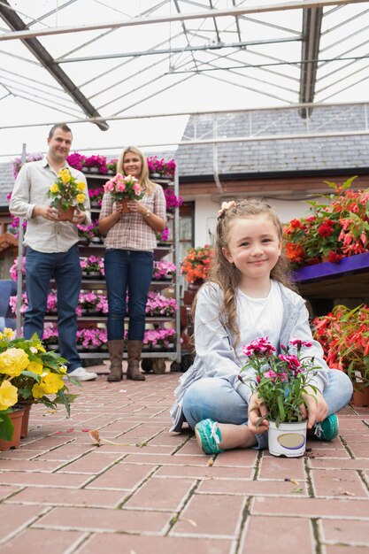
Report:
M58 179L50 186L47 196L51 198L51 206L62 212L70 207L78 207L84 212L85 189L86 184L83 181L77 181L65 167L59 171Z

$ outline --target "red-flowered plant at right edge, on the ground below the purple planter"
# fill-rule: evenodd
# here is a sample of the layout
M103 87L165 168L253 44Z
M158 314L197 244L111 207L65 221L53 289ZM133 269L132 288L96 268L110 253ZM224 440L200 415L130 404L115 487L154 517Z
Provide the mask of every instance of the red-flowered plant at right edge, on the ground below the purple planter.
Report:
M347 373L355 390L369 387L369 308L338 305L313 325L327 364Z

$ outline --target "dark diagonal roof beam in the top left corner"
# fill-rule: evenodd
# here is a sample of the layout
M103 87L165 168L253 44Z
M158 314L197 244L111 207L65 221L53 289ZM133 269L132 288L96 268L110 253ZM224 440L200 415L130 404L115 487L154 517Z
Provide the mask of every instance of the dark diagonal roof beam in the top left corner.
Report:
M15 31L28 30L22 19L19 18L17 13L7 9L7 0L3 0L0 3L0 15L6 21L6 23ZM21 41L27 46L27 49L37 58L42 66L58 81L58 83L65 89L67 94L71 96L75 104L79 105L88 117L101 117L100 113L96 111L94 106L88 102L86 96L81 93L81 90L73 83L68 75L59 67L53 58L51 58L48 50L46 50L42 43L36 38L22 38ZM107 131L109 125L104 119L96 121L97 127L102 131Z

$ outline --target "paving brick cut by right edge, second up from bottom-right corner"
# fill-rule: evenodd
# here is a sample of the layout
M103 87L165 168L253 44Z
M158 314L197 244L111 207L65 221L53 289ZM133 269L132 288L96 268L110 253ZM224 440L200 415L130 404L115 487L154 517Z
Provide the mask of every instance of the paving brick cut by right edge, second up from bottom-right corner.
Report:
M321 519L320 526L324 542L369 547L367 521Z

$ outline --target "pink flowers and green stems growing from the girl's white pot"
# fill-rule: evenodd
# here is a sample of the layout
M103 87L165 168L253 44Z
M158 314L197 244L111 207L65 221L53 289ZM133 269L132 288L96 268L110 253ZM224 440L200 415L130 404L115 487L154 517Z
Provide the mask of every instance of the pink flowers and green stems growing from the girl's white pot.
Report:
M260 337L242 347L248 361L239 378L245 382L242 373L253 370L255 377L248 380L250 388L263 399L266 419L275 421L277 427L284 421L301 421L300 406L305 404L304 395L317 390L311 380L319 367L314 365L313 358L304 356L312 342L291 339L289 344L281 345L283 353L278 355L267 337Z

